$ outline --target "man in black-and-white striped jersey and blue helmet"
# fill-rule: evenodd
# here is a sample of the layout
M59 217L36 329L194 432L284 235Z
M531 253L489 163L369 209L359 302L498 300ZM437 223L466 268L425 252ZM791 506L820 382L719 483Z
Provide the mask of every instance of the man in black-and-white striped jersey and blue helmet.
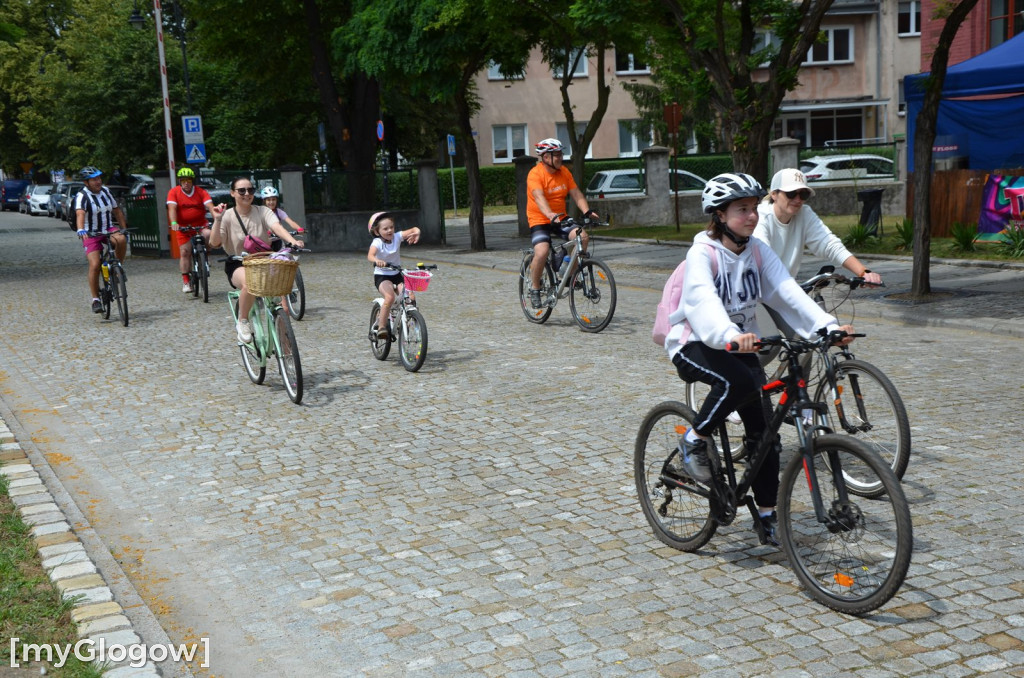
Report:
M83 167L79 178L85 187L75 196L75 220L78 237L82 239L85 257L89 260L89 290L92 292L92 312L100 313L103 305L99 302L99 258L103 249L103 239L110 238L114 253L120 261L125 259L128 239L124 234L108 236L110 230L128 227L124 212L114 200L114 196L103 185L103 173L95 167ZM117 219L117 225L114 221Z

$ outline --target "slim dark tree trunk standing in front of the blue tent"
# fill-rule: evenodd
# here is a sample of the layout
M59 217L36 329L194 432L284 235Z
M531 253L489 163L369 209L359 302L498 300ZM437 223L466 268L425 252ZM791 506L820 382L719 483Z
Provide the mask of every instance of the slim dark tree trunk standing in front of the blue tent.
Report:
M962 0L952 8L939 34L939 41L932 53L931 76L926 81L925 100L918 114L913 137L913 271L910 276L910 293L914 296L931 294L932 257L932 145L938 126L939 102L942 85L946 80L949 47L956 37L964 19L978 0Z

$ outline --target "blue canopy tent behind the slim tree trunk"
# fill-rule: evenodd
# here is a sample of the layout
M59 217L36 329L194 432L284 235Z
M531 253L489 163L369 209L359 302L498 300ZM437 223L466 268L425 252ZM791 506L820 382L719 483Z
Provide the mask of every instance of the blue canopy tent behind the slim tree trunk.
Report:
M929 74L907 76L907 166ZM970 169L1024 167L1024 34L949 67L942 84L935 158L967 158Z

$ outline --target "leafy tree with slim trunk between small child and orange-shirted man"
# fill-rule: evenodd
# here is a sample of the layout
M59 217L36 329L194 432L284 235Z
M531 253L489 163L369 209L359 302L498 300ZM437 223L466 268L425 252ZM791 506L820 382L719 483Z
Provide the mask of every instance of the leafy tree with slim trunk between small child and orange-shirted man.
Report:
M337 51L385 85L454 107L466 150L470 246L485 249L483 186L473 137L474 76L494 61L505 75L520 73L532 44L525 6L500 0L373 0L334 36Z

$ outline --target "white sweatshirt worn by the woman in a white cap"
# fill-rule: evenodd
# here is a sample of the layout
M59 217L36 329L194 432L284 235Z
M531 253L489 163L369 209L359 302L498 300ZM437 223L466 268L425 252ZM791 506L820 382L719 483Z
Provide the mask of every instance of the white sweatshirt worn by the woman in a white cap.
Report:
M782 223L775 216L773 204L761 203L758 205L758 227L754 229L754 237L766 243L794 277L800 270L804 247L837 268L842 268L843 262L853 256L808 205L800 208L790 223Z

